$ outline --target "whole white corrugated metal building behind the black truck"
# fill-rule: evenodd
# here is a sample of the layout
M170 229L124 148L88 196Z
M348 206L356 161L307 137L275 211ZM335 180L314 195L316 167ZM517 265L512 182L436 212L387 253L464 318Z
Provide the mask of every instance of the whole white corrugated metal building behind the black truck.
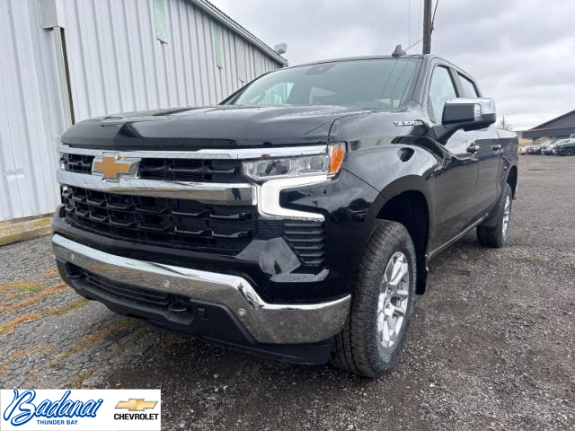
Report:
M215 104L286 65L206 0L2 0L0 221L54 211L70 124Z

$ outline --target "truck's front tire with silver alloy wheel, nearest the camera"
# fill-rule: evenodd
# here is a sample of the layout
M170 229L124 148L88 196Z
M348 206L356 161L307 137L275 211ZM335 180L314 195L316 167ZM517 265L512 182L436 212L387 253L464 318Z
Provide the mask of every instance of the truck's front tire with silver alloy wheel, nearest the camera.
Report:
M407 272L394 277L395 284L386 283L394 269ZM333 365L366 377L384 374L394 366L411 321L416 274L415 250L407 229L403 224L376 221L359 266L348 319L332 343Z

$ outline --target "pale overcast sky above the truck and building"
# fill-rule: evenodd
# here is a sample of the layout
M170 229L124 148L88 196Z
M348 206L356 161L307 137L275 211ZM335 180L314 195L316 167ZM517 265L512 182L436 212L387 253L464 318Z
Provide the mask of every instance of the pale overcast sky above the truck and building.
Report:
M290 65L421 37L422 0L211 2L271 47L286 42ZM516 130L575 110L575 0L439 0L431 52L473 75Z

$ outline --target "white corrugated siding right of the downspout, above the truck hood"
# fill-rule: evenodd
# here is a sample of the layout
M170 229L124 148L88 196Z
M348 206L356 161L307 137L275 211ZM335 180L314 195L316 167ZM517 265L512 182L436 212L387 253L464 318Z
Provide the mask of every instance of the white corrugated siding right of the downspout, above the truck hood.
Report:
M279 67L187 0L165 0L167 43L155 39L152 0L65 0L75 119L211 105ZM223 67L212 26L220 25Z

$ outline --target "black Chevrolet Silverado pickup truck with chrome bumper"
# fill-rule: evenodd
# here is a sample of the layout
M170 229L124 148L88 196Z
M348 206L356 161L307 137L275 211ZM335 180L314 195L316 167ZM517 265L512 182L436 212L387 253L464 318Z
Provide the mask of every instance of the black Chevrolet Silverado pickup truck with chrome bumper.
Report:
M517 137L473 78L426 56L283 68L205 108L62 136L57 267L112 311L374 376L428 261L509 238ZM479 306L479 305L478 305Z

